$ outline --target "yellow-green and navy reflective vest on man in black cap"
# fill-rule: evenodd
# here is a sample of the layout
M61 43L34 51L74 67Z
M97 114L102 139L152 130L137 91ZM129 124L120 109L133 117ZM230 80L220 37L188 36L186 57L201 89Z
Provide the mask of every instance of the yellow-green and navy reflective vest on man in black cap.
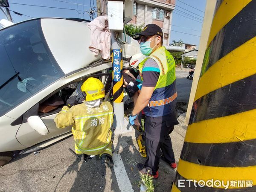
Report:
M158 78L157 84L154 88L154 92L149 102L161 103L157 101L165 99L170 100L171 98L174 99L172 99L172 102L166 102L165 105L148 105L148 107L145 107L143 111L146 116L165 116L175 110L176 106L177 88L175 77L175 61L170 52L167 51L165 47L158 48L156 51L151 53L148 58L154 59L160 69L160 76ZM142 74L143 65L148 58L145 58L145 60L139 64L140 74ZM143 77L141 78L143 80Z

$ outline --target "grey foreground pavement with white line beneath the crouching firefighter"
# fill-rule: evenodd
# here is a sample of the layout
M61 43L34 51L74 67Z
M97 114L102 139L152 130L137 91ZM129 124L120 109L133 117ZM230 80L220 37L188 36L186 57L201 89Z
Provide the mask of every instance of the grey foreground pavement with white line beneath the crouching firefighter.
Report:
M178 126L171 134L177 161L184 140L184 135L176 131L180 129ZM37 155L20 155L0 168L0 191L140 191L137 163L143 163L145 159L138 151L134 129L115 136L114 168L101 166L97 156L87 162L77 160L68 148L73 148L73 137L51 145ZM154 180L155 191L170 191L175 170L161 161L159 174L160 177Z

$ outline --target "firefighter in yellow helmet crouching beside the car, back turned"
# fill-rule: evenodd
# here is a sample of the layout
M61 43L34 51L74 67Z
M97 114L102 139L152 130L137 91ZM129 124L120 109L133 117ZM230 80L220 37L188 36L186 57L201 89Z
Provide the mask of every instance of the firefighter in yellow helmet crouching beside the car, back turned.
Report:
M113 166L112 132L113 107L102 102L105 97L104 85L99 79L89 78L81 86L84 102L76 105L77 96L67 99L54 121L57 128L73 125L75 152L82 155L98 155L102 164Z

